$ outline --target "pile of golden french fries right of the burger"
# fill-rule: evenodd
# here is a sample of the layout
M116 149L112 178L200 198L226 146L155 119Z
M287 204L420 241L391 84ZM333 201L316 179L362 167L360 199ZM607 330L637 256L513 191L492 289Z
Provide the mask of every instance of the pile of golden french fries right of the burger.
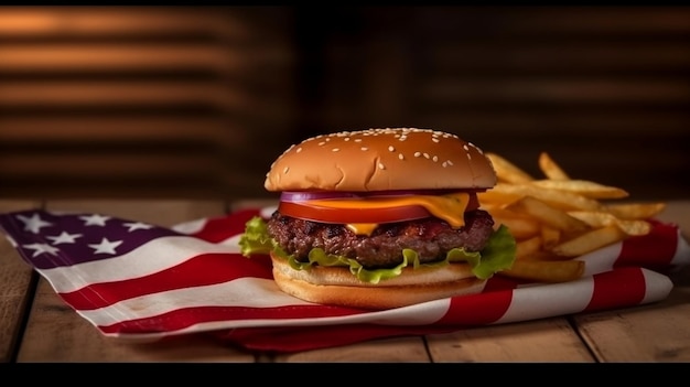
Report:
M538 160L542 179L499 154L487 157L498 182L479 194L479 203L517 241L515 264L503 276L539 282L575 280L584 272L584 261L574 258L649 233L647 221L666 207L661 202L621 201L629 196L623 189L571 179L547 152Z

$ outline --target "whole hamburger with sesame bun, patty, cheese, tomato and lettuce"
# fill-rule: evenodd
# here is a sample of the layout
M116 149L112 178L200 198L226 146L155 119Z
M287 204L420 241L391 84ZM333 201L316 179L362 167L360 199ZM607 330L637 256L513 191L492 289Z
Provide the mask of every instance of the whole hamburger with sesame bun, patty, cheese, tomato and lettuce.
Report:
M416 128L342 131L293 144L265 189L242 255L269 254L273 279L299 299L391 309L482 292L515 259L515 239L482 209L496 184L484 152L456 135Z

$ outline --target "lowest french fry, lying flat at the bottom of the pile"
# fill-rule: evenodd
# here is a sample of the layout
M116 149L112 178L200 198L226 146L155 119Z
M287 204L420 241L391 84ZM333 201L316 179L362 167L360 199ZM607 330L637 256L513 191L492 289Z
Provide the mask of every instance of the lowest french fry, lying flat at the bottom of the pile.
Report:
M538 282L568 282L582 277L584 262L581 260L516 260L510 269L500 271L506 277Z

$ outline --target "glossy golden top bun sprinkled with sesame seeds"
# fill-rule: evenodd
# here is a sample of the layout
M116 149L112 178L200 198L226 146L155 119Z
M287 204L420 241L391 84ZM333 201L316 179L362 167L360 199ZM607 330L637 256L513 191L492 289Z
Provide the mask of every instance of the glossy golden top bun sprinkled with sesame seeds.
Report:
M430 129L386 128L309 138L266 174L268 191L490 189L496 172L471 142Z

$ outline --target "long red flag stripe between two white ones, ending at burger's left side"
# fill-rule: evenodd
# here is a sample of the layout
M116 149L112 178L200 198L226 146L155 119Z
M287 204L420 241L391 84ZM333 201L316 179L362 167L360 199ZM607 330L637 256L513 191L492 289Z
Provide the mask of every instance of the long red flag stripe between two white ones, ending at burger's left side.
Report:
M77 310L94 310L134 297L245 277L273 279L268 256L257 255L249 259L239 254L205 254L150 276L94 283L60 295Z

